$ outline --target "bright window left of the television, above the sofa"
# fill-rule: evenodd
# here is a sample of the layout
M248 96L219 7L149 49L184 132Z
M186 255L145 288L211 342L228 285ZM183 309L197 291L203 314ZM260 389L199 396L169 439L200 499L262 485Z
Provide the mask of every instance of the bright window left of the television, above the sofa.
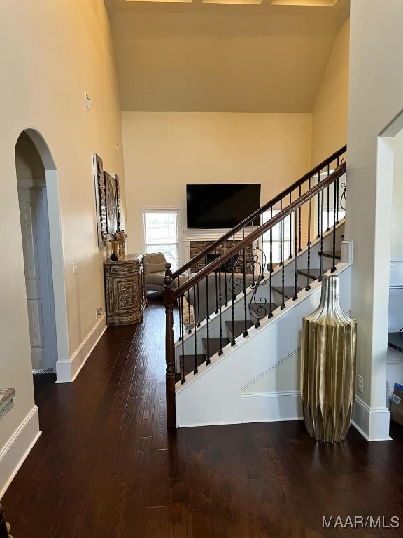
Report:
M143 209L143 250L163 252L173 271L179 267L179 216L176 208Z

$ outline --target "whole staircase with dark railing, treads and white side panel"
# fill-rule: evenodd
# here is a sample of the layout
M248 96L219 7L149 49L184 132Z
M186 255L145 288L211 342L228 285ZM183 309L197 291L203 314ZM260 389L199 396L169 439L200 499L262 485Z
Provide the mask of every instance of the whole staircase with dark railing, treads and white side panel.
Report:
M302 316L316 308L327 271L337 271L348 287L349 265L341 263L345 151L320 163L175 273L167 267L168 425L299 418L298 391L290 379L295 385L299 378ZM253 226L257 216L262 224ZM215 254L240 232L241 242L204 265L206 254ZM222 272L242 251L243 265ZM197 273L190 273L198 263ZM186 325L185 309L193 314ZM205 319L200 311L207 312ZM176 338L174 316L179 317ZM274 382L276 390L269 390Z

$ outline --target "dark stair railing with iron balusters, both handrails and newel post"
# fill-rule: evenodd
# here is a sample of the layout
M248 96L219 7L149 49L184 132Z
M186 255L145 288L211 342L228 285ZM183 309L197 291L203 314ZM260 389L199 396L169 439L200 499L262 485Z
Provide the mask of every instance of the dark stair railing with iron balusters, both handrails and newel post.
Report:
M297 299L301 287L298 254L305 252L305 289L309 290L313 277L320 278L323 270L323 240L331 239L331 270L336 268L337 225L344 216L346 184L346 146L323 163L313 168L301 179L267 202L264 206L229 230L185 263L174 273L167 264L164 304L166 309L166 385L167 424L176 425L175 384L185 382L189 372L197 374L201 361L203 330L206 341L205 364L210 363L211 317L217 315L218 354L227 344L223 333L225 321L229 324L231 345L236 345L236 326L241 323L241 333L248 335L253 323L271 317L275 308L285 308L288 298ZM320 267L311 268L311 245L319 244ZM212 261L206 263L208 255ZM293 265L293 284L286 282L285 267ZM280 275L279 286L272 279ZM289 273L289 270L288 270ZM278 284L278 283L277 283ZM264 293L260 294L260 291ZM274 294L277 301L274 303ZM236 298L242 301L242 314L235 313ZM222 310L229 307L225 319ZM226 309L227 310L227 309ZM181 342L181 359L176 371L174 317L178 319L177 340ZM229 320L228 320L229 317ZM186 319L186 323L185 322ZM187 333L187 334L185 334ZM185 354L185 340L192 338L192 354ZM189 345L187 343L186 348ZM189 362L190 359L190 362Z

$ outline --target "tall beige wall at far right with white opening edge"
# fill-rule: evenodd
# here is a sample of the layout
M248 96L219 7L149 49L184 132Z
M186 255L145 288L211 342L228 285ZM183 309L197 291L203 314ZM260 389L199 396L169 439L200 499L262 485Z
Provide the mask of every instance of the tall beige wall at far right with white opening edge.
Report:
M354 242L351 313L364 378L360 397L371 410L362 429L372 438L389 425L384 406L393 138L380 135L403 109L402 34L401 1L351 0L346 238ZM402 117L388 136L401 127ZM355 406L356 420L360 411L368 415L365 406Z

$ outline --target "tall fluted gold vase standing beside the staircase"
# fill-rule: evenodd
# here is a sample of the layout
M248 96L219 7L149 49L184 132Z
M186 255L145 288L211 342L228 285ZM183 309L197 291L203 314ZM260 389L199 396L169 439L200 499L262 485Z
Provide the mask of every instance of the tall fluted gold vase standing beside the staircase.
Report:
M316 441L346 439L355 396L356 342L357 322L339 304L339 277L324 275L320 304L302 319L302 409Z

